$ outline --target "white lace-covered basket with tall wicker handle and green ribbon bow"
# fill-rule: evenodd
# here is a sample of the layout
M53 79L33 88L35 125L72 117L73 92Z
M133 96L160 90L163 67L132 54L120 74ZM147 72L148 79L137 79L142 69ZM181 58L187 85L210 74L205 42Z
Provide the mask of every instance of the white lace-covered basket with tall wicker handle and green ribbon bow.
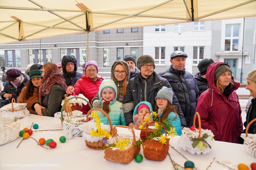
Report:
M195 128L196 117L198 117L199 129ZM198 112L195 113L194 123L191 128L183 128L178 146L190 154L207 154L215 145L214 134L212 131L201 128L201 119Z

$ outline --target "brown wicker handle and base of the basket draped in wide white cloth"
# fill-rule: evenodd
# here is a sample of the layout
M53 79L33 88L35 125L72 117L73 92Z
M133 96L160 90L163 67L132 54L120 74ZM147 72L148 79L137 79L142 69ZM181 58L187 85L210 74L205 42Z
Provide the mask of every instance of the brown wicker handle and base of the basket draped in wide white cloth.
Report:
M108 116L108 114L107 114L105 111L103 111L103 110L101 110L101 109L93 108L93 109L89 110L89 111L87 112L86 122L88 122L89 114L90 114L92 111L95 111L95 110L102 112L102 113L107 117L108 122L109 122L109 125L110 125L110 134L112 134L112 133L114 132L114 135L115 135L115 134L117 133L117 130L115 130L115 131L112 132L112 122L111 122L111 120L110 120L110 117ZM104 137L102 140L108 140L108 137ZM99 140L99 141L97 141L97 142L90 142L90 141L85 140L85 144L86 144L86 146L87 146L88 148L94 149L94 150L103 150L103 146L105 146L105 144L104 144L101 140Z

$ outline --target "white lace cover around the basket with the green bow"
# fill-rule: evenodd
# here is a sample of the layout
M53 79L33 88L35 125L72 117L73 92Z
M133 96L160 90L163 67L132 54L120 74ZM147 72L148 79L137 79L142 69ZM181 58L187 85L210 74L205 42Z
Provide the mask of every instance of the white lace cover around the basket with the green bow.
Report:
M182 147L184 151L188 151L190 154L198 154L200 155L201 153L203 154L207 154L211 151L211 148L206 144L207 147L203 146L203 149L200 150L198 148L198 146L196 146L195 148L193 148L192 143L193 141L191 141L190 139L195 139L198 138L199 136L199 130L195 129L194 131L192 131L190 128L183 128L183 130L181 131L181 137L178 140L178 146ZM201 137L204 134L208 134L209 137L207 137L205 139L205 141L211 146L214 147L215 146L215 140L214 140L214 134L212 133L212 131L206 129L201 129Z

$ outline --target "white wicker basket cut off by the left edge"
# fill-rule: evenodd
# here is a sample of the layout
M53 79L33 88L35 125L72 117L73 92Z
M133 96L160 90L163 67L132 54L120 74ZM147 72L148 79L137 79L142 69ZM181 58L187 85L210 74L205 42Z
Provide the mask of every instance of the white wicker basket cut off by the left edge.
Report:
M16 140L20 133L20 120L2 119L0 114L0 145Z

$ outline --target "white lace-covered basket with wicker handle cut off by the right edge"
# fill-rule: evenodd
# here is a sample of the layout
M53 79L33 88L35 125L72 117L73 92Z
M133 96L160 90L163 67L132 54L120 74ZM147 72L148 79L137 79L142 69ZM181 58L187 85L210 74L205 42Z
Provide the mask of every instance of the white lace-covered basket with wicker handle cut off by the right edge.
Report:
M247 153L256 158L256 134L248 134L250 125L255 121L256 118L249 122L249 124L246 126L245 134L241 134L241 137L244 139L244 146Z

